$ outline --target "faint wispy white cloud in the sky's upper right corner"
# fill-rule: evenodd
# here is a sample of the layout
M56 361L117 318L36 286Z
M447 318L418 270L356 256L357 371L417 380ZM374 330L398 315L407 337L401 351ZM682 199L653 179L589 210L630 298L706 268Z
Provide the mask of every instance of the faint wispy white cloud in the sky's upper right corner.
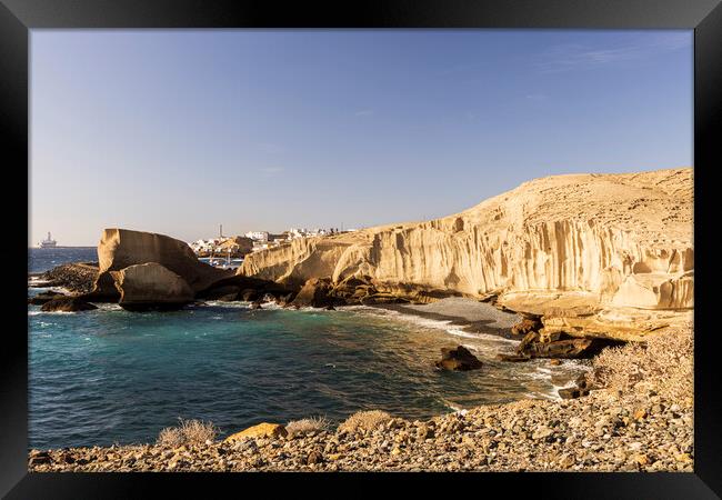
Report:
M605 48L568 43L554 46L541 53L535 61L535 67L543 73L556 73L640 60L683 48L691 48L691 36L688 33L665 33L658 37L642 36L636 40Z

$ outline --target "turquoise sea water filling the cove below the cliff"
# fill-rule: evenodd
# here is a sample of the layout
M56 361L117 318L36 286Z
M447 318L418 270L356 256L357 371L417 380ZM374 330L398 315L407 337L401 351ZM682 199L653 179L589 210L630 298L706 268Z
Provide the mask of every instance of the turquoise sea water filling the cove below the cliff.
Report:
M176 312L102 304L43 313L29 306L28 314L32 448L149 442L179 417L211 420L223 434L261 421L341 421L363 409L422 419L553 389L543 361L493 359L515 342L371 308L209 302ZM440 349L458 344L483 369L437 370Z

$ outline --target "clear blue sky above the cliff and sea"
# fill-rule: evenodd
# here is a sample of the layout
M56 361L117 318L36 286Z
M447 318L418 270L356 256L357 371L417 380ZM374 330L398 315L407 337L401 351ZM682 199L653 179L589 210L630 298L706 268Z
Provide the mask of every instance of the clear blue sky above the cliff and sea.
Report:
M692 31L33 30L30 243L368 227L692 164Z

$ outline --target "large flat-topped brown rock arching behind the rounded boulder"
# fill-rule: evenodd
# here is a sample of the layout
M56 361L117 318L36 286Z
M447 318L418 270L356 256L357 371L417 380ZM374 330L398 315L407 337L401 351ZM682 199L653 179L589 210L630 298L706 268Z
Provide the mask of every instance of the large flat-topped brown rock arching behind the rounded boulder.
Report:
M193 293L234 274L201 262L183 241L152 232L106 229L98 244L99 274L93 288L98 299L118 298L112 271L156 262L182 278Z

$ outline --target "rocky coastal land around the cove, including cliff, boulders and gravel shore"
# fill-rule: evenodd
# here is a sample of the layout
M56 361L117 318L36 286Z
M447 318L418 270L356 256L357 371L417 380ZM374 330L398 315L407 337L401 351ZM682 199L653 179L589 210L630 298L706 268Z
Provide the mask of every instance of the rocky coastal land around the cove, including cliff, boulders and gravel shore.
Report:
M237 272L198 261L188 244L163 234L106 229L97 267L67 264L42 277L71 294L31 303L63 311L93 302L131 311L203 300L364 304L490 332L469 306L485 302L514 319L491 331L520 340L505 361L591 358L593 370L560 391L571 399L234 442L33 450L29 467L692 470L692 208L690 168L555 176L442 219L294 240L247 256ZM675 348L654 364L650 352L660 344ZM630 374L635 363L654 368Z

